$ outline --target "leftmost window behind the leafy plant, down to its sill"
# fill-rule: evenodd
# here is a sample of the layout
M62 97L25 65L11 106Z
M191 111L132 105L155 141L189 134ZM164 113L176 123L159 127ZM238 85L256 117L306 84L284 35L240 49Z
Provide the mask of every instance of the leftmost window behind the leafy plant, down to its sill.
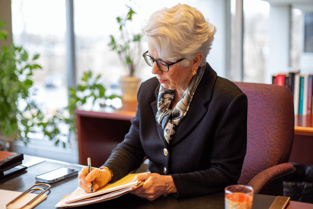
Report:
M37 104L49 117L55 114L56 109L68 105L65 0L12 0L11 3L13 43L23 46L29 57L40 54L36 63L42 66L42 70L34 71L32 80L34 88L38 89ZM66 125L61 125L59 129L68 132ZM32 140L27 147L18 141L13 145L13 151L78 162L77 150L71 149L75 143L69 144L67 138L64 138L67 149L63 149L63 143L55 147L54 142L42 133L29 137Z

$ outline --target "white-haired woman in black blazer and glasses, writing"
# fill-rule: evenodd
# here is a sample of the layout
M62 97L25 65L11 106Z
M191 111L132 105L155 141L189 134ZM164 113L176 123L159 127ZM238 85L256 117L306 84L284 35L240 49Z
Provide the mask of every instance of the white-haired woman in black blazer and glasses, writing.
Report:
M185 4L156 11L142 28L143 54L156 77L141 84L138 109L125 139L100 167L79 175L90 192L138 168L151 173L131 193L154 200L222 191L237 184L246 154L247 97L206 62L215 27Z

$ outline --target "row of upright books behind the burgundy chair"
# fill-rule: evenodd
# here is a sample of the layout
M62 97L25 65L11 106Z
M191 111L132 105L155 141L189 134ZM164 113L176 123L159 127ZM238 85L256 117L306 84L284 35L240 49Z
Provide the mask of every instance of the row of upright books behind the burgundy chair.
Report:
M312 115L313 74L299 70L273 75L273 84L289 88L294 97L295 115Z

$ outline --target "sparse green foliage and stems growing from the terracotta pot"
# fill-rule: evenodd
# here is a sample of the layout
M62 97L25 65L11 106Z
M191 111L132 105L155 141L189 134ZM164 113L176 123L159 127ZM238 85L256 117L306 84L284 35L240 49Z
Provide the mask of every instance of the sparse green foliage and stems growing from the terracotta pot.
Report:
M109 46L111 47L111 50L117 52L121 62L126 66L128 70L127 75L134 76L136 64L141 53L141 35L132 34L129 30L127 30L127 22L131 22L132 16L136 14L131 7L127 7L129 10L126 16L116 18L116 21L119 24L121 36L119 39L116 39L113 35L110 35L111 41Z

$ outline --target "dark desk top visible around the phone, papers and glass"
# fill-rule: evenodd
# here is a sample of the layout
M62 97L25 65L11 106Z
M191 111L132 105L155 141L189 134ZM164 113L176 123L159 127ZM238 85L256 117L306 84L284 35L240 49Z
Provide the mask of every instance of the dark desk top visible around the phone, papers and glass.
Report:
M25 155L25 160L23 163L28 162L34 158L32 156ZM69 166L72 168L81 169L83 166L76 164L69 164L55 160L47 159L45 162L39 163L37 165L33 165L32 167L27 168L23 173L11 176L7 179L0 181L0 189L4 190L12 190L12 191L20 191L23 192L27 190L32 185L38 183L35 181L35 176L38 174L45 173L50 170L57 169L59 167ZM77 175L69 177L65 180L61 180L59 182L51 184L51 188L45 194L48 195L47 199L39 203L35 208L55 208L54 205L62 199L62 197L66 194L70 194L73 192L78 185ZM1 199L1 198L0 198ZM254 195L253 200L253 209L268 209L272 203L275 201L276 196L268 196L268 195ZM295 205L295 206L292 206ZM214 209L223 209L224 208L224 194L223 192L186 198L186 199L176 199L172 195L163 195L160 198L157 198L155 201L148 201L146 199L141 199L135 195L126 194L124 196L118 197L114 200L105 201L97 204L92 204L88 206L77 207L80 209L85 208L153 208L153 209L164 209L164 208L214 208ZM291 206L291 207L290 207ZM302 207L298 207L297 202L291 201L290 205L287 209L292 208L311 208L313 209L313 204L302 203Z

